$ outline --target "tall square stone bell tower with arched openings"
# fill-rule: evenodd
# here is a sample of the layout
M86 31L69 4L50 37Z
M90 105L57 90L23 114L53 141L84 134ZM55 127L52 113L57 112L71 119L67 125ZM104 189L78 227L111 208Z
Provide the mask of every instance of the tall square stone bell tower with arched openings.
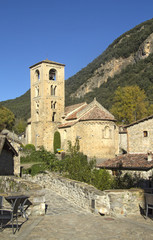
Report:
M53 137L65 107L64 64L48 59L30 67L31 143L53 151Z

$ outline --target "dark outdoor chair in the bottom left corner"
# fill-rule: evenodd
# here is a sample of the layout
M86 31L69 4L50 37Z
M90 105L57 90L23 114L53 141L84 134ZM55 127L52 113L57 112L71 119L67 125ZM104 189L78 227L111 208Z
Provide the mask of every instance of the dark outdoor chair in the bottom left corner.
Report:
M15 234L16 231L14 231L14 220L16 220L16 230L19 231L18 226L18 208L20 206L20 198L15 199L14 204L12 206L12 210L0 210L0 222L1 222L1 231L3 230L3 226L6 226L8 222L11 222L12 225L12 231L13 234ZM4 222L6 222L4 224Z

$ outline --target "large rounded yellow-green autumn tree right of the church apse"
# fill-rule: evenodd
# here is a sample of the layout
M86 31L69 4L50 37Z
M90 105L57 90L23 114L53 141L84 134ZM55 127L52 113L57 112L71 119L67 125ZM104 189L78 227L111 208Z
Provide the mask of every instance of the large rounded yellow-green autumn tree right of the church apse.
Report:
M111 112L119 123L129 124L147 116L148 101L137 85L118 87Z

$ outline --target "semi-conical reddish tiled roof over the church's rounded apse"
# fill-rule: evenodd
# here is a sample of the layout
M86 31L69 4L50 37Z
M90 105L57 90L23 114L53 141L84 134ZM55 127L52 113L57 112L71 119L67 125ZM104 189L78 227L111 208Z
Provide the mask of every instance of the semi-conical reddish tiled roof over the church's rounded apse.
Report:
M94 106L89 112L87 112L80 120L115 120L115 118L109 114L109 112L105 112L97 106Z

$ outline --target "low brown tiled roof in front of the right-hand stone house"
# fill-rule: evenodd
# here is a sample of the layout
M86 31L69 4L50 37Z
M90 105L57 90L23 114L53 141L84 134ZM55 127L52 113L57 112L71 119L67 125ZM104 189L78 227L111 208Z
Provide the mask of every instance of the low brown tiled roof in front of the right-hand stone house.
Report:
M149 170L153 168L153 160L147 160L147 154L124 154L97 165L106 169Z

